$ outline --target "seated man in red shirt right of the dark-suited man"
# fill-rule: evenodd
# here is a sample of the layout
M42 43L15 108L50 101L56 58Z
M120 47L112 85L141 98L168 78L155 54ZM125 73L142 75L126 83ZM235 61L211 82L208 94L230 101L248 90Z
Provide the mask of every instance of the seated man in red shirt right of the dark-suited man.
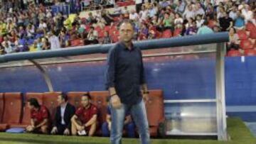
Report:
M89 136L92 136L97 128L97 107L91 104L89 94L81 97L81 105L71 118L72 135L86 135L88 133Z

